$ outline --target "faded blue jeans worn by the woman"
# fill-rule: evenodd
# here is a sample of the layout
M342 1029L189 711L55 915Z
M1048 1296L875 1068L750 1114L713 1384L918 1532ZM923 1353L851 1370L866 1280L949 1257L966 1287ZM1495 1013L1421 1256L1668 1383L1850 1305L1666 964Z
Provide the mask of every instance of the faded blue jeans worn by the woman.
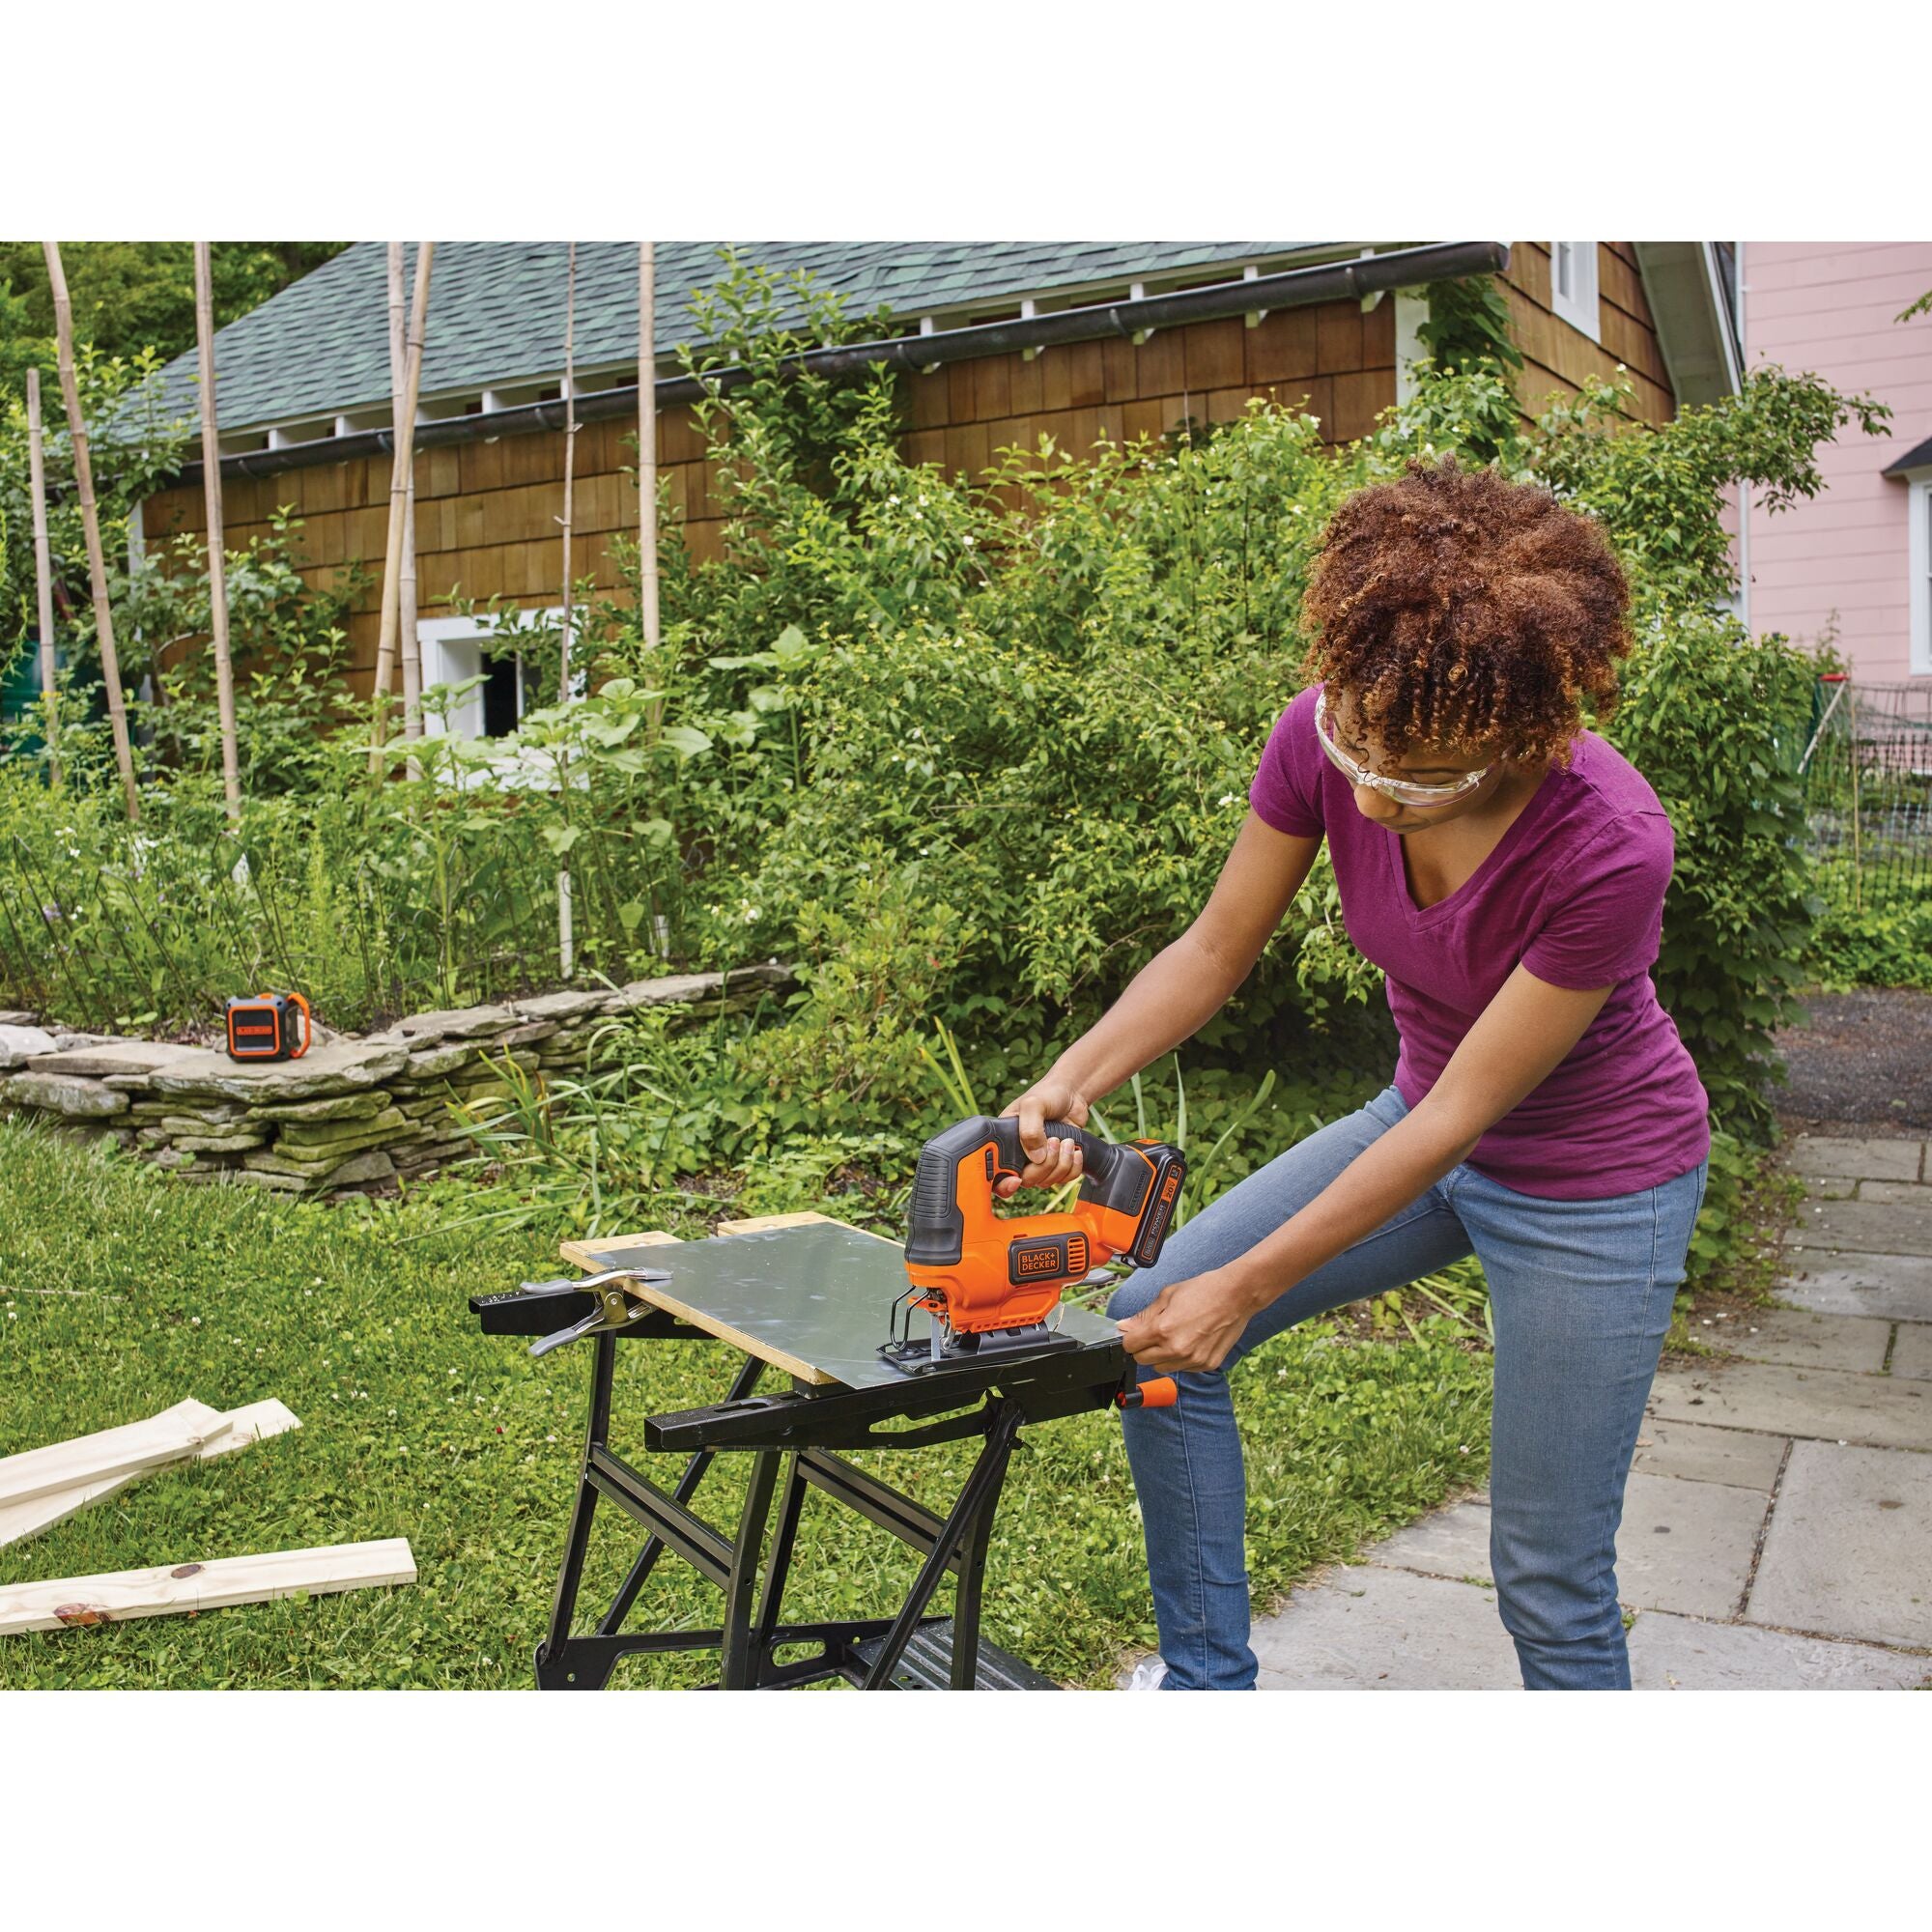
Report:
M1167 1242L1109 1304L1138 1314L1169 1283L1246 1254L1408 1109L1391 1086L1258 1169ZM1615 1542L1706 1165L1607 1200L1519 1194L1457 1167L1374 1235L1264 1308L1171 1408L1122 1416L1140 1492L1165 1690L1250 1690L1246 1480L1227 1370L1296 1321L1399 1289L1474 1252L1490 1281L1495 1395L1490 1561L1530 1690L1627 1690Z

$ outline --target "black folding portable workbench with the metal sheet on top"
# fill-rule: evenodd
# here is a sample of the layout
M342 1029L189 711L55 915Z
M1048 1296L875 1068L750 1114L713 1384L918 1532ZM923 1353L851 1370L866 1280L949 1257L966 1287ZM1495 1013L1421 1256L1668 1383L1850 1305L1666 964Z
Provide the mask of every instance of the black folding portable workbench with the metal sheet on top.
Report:
M879 1354L891 1308L908 1283L898 1244L877 1235L821 1215L777 1215L738 1223L709 1240L632 1235L566 1242L562 1252L591 1273L526 1283L469 1302L485 1333L564 1337L576 1329L591 1343L583 1463L551 1629L537 1646L539 1689L597 1690L626 1656L680 1650L715 1650L719 1687L726 1690L788 1689L833 1677L866 1690L1053 1689L980 1636L987 1544L1020 1430L1105 1408L1121 1393L1130 1368L1113 1321L1063 1308L1051 1347L906 1374ZM686 1457L670 1490L611 1447L616 1345L667 1339L721 1341L742 1356L723 1401L645 1420L647 1453ZM983 1445L945 1517L838 1455L914 1451L968 1437L981 1437ZM692 1507L721 1453L752 1457L732 1536ZM784 1619L810 1490L923 1557L891 1615ZM601 1497L647 1534L595 1631L576 1631ZM715 1629L624 1629L667 1551L723 1594ZM952 1615L931 1615L947 1575L958 1580ZM779 1660L781 1652L798 1650L806 1654Z

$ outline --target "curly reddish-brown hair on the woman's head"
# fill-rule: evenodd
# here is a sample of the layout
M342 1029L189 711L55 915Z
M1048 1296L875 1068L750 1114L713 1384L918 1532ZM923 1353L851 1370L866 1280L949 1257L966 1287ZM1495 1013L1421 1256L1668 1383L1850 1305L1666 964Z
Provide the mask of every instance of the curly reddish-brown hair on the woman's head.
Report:
M1329 520L1302 603L1306 670L1397 757L1443 746L1561 763L1584 701L1615 707L1629 607L1588 516L1453 456L1412 460Z

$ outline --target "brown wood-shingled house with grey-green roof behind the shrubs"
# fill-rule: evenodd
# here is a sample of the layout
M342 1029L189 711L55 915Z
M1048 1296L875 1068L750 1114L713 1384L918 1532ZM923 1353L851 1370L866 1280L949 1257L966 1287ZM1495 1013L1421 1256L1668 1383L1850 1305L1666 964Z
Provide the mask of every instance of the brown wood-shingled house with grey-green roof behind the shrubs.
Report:
M891 311L893 334L819 352L902 371L914 462L980 471L993 450L1041 435L1088 448L1159 437L1184 417L1221 421L1250 396L1304 404L1329 440L1366 433L1405 384L1430 286L1499 274L1524 352L1524 404L1625 365L1654 421L1737 381L1727 243L1499 242L761 242L738 259L808 270L854 315ZM413 251L412 251L413 253ZM611 587L612 533L638 524L624 439L638 427L638 255L578 245L574 568ZM690 296L717 280L721 243L657 251L659 462L684 541L719 543L715 477L692 421L678 346ZM566 245L440 243L417 421L415 504L423 680L481 668L473 620L452 597L554 607L564 454ZM230 547L278 506L305 522L305 574L379 566L390 479L386 247L361 242L216 336ZM195 357L166 371L197 410ZM205 527L199 464L143 506L145 541ZM582 558L582 562L578 562ZM377 591L352 622L367 694ZM500 682L500 678L498 678ZM510 684L475 694L452 728L510 728Z

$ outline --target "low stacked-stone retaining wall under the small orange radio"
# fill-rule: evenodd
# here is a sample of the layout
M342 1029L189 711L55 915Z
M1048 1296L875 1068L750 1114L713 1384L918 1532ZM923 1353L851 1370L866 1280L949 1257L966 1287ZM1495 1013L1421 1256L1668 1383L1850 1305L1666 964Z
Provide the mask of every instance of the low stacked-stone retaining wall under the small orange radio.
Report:
M508 1066L576 1072L597 1022L639 1007L732 1012L792 983L777 962L417 1012L383 1034L317 1032L299 1061L41 1028L0 1012L0 1111L35 1109L180 1180L340 1194L469 1151L450 1109L506 1095Z

